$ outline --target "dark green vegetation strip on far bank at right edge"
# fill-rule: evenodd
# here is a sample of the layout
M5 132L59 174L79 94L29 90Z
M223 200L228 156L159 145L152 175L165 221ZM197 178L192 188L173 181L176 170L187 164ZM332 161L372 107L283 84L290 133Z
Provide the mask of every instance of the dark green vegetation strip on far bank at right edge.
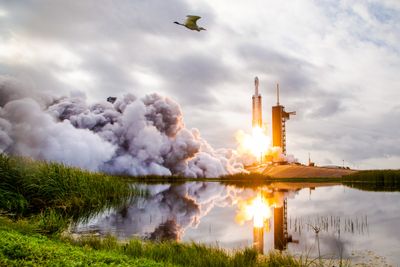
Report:
M367 191L400 191L400 170L359 171L344 176L342 183Z

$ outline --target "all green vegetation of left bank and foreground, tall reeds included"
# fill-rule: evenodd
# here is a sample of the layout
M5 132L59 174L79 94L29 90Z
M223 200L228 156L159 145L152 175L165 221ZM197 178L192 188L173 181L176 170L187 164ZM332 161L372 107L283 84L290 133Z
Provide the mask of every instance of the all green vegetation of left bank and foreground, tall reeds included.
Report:
M78 215L125 205L139 194L122 177L0 155L0 266L302 266L291 256L253 249L62 237Z

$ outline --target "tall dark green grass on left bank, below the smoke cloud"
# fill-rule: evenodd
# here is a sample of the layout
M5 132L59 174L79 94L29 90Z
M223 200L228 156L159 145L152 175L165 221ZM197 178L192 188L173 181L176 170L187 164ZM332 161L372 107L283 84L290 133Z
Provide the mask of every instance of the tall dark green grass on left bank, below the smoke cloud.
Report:
M59 163L0 155L0 210L17 216L49 213L79 217L122 205L144 192L117 177Z

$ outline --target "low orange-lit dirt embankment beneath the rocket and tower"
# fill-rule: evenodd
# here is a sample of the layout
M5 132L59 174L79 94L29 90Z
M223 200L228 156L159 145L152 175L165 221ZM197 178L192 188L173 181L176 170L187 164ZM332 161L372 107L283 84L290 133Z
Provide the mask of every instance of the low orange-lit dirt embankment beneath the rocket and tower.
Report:
M355 170L325 167L309 167L302 165L268 166L256 172L274 178L337 178L356 172Z

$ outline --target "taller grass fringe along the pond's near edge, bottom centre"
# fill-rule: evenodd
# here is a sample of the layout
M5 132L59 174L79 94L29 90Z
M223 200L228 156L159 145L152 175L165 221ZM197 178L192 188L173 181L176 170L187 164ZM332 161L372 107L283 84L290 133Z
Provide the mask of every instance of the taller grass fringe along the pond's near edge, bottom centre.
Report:
M177 243L175 241L155 243L136 239L121 244L112 236L103 239L89 236L82 237L79 240L71 239L69 242L96 250L118 251L132 258L146 258L188 267L313 266L311 261L307 263L303 259L296 259L291 255L280 252L270 252L265 256L260 255L252 248L228 252L218 247L209 247L197 243Z

